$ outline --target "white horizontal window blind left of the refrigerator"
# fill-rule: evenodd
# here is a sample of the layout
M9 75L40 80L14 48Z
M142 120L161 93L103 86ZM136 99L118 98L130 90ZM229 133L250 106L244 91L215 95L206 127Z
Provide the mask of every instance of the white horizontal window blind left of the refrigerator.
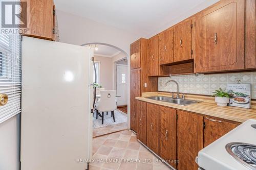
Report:
M9 99L0 106L0 124L21 112L21 41L18 34L0 33L0 94Z

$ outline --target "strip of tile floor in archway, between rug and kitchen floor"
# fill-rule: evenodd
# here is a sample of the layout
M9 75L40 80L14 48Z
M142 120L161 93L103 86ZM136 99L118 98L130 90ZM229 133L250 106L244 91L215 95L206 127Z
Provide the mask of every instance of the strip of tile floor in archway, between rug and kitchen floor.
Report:
M111 126L105 126L101 128L93 128L93 137L101 136L108 133L117 132L127 129L127 122L121 124L115 124Z

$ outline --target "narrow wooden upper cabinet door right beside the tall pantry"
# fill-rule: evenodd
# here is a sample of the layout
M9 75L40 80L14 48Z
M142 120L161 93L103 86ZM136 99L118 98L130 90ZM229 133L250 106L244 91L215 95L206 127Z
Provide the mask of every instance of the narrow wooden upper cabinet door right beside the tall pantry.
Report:
M148 39L147 76L158 76L158 35Z

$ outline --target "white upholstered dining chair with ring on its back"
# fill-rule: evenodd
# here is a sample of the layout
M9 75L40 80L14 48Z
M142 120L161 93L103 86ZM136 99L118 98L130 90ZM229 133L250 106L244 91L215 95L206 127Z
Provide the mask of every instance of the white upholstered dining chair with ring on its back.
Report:
M95 107L96 119L98 118L99 112L102 112L102 125L104 122L104 112L111 112L111 117L113 117L114 122L116 122L114 114L114 110L116 110L116 90L100 91L100 100Z

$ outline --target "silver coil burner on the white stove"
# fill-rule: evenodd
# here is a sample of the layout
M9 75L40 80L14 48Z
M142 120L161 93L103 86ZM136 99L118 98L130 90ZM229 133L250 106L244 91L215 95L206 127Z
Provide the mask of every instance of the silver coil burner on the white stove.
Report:
M232 142L226 145L227 152L251 170L256 170L256 145Z

